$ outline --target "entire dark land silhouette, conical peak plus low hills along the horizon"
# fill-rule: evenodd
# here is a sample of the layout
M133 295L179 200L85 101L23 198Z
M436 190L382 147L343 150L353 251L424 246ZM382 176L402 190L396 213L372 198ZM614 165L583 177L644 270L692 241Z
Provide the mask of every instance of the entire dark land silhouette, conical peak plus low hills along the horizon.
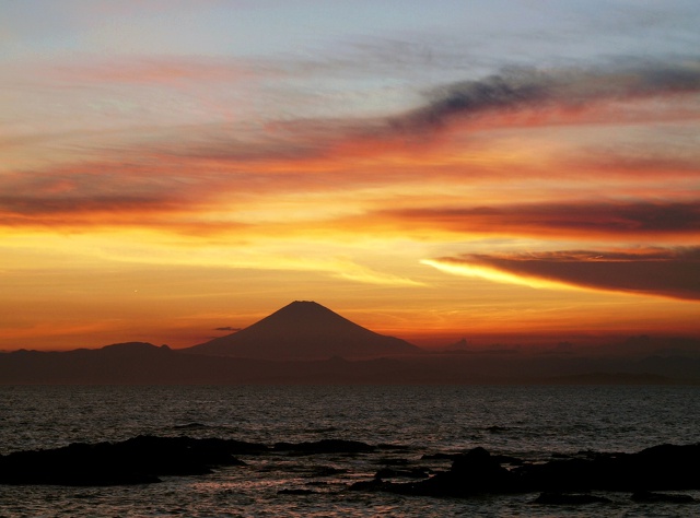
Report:
M700 341L425 351L314 302L183 350L129 342L0 353L0 384L700 384Z

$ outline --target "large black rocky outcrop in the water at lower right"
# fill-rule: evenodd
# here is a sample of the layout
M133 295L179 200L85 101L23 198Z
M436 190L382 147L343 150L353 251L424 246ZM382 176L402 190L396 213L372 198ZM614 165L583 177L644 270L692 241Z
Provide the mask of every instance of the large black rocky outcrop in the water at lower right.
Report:
M515 467L506 469L501 466L504 459ZM584 452L581 457L558 458L545 463L499 458L483 448L475 448L455 457L450 470L428 480L394 483L384 481L377 473L374 480L358 482L351 490L456 497L479 493L542 492L544 499L583 501L585 498L569 493L698 490L699 463L700 444L661 445L637 454Z

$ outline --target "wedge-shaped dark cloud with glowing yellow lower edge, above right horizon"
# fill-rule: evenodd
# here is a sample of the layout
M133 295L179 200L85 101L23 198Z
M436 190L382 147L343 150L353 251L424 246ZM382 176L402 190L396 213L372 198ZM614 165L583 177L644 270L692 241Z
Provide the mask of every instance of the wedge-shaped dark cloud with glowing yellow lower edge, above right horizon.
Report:
M425 262L503 282L700 302L700 247L465 255Z

